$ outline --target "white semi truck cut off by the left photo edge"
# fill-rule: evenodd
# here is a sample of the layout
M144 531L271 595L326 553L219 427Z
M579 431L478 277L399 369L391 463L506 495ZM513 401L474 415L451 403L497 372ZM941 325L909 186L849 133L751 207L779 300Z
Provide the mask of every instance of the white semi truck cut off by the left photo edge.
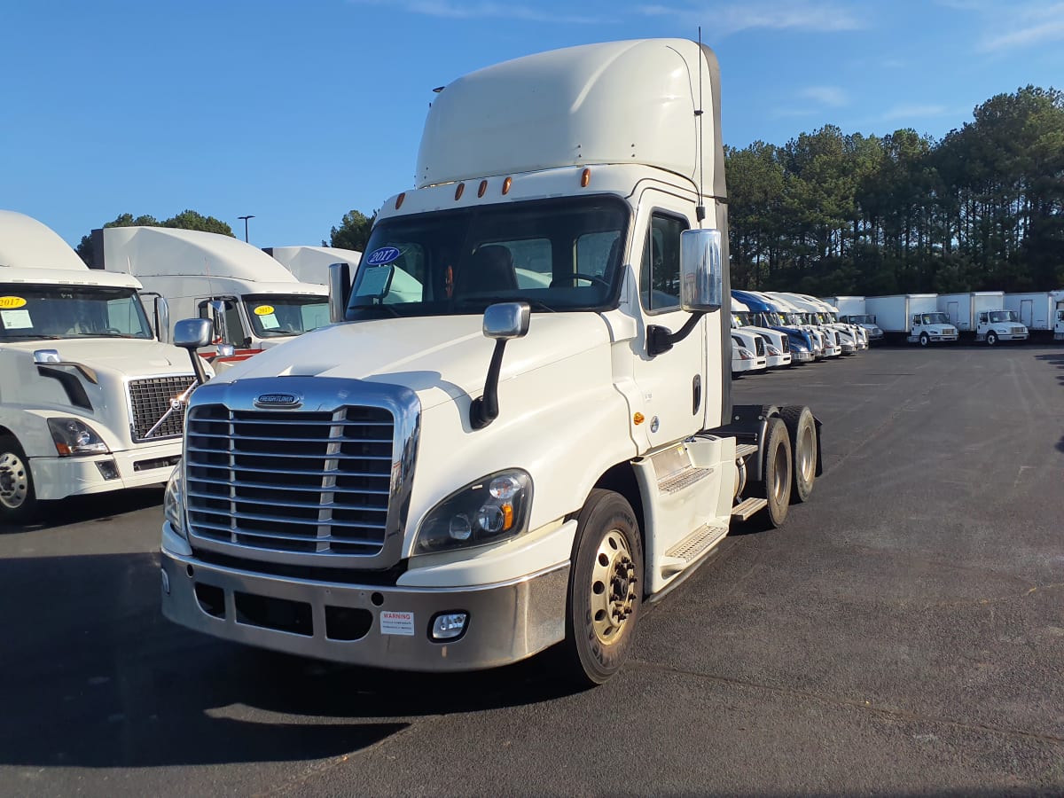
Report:
M32 520L41 501L173 470L195 377L185 352L156 339L139 288L0 211L0 528ZM152 316L165 340L166 303Z

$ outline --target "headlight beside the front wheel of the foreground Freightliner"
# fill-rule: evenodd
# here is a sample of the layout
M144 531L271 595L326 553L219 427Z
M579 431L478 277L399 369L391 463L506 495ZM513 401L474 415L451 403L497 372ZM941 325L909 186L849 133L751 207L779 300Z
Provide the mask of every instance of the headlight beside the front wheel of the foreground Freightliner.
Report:
M528 531L532 478L518 469L498 471L439 502L417 533L414 553L485 546Z

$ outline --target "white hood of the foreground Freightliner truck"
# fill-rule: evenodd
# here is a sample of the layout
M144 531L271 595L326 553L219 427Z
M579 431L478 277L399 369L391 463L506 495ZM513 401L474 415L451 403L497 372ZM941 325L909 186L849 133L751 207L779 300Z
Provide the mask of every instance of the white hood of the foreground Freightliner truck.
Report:
M480 315L331 325L238 363L215 380L332 377L405 385L427 410L483 390L495 342L484 337L482 325ZM609 343L596 313L534 314L528 335L506 344L500 382Z

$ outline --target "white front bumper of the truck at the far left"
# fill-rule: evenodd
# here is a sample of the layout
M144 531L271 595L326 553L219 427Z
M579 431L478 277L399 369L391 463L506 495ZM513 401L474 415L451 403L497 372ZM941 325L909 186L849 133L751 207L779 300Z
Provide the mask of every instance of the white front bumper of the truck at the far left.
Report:
M181 438L111 454L82 458L30 458L37 498L68 496L159 485L169 479L181 459Z

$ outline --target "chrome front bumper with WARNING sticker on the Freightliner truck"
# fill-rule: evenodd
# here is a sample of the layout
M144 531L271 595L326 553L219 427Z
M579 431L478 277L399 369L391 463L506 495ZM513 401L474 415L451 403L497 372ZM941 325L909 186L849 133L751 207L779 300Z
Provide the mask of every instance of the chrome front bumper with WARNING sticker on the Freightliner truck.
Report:
M163 615L170 620L319 660L396 670L477 670L523 660L565 636L568 563L499 584L449 588L275 577L207 564L165 547L162 568ZM469 615L462 636L432 641L435 616L459 611ZM383 620L385 613L392 619Z

